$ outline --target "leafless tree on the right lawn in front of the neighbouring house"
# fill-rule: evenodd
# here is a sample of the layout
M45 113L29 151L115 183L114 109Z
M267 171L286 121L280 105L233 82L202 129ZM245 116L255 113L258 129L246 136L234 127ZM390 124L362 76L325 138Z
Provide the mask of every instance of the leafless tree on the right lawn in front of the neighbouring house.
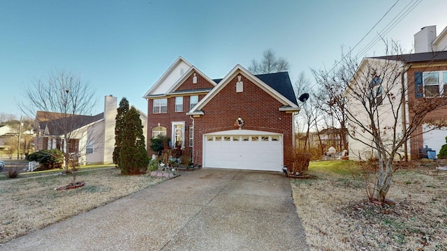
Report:
M379 160L375 190L369 198L379 201L386 199L397 168L393 162L401 147L422 133L418 128L427 123L427 114L447 105L442 93L406 99L415 95L415 79L406 75L411 68L406 57L411 54L402 54L394 42L386 45L386 55L390 56L365 58L358 64L355 56L344 55L336 71L337 81L346 86L344 98L349 107L343 112L348 118L349 136L374 149ZM407 109L413 116L405 116ZM433 128L445 126L432 122Z

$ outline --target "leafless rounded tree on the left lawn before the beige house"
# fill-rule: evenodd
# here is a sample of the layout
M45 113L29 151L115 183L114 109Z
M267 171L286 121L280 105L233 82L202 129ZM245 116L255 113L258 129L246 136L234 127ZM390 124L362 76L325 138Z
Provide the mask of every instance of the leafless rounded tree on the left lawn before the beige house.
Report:
M24 86L26 101L18 105L29 116L41 114L36 118L40 120L37 122L45 122L53 133L50 136L57 139L56 144L64 153L66 172L69 172L70 165L75 169L80 151L85 151L87 144L100 140L89 135L87 142L80 142L89 134L88 130L94 130L81 129L92 119L90 115L96 105L94 93L89 82L65 70L54 70L45 79L34 79Z

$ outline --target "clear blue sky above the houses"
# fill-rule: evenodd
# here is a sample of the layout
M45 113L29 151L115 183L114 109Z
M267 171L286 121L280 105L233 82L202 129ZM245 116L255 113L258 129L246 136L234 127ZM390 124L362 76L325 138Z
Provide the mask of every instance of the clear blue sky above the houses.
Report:
M174 0L0 0L0 113L21 115L24 86L50 71L80 74L98 96L126 97L147 112L142 96L183 56L211 78L237 63L249 67L272 49L301 71L331 68L342 47L354 47L396 0L174 1ZM406 8L406 6L408 6ZM412 8L411 11L405 11ZM360 43L360 52L393 18L383 34L404 50L423 26L447 26L447 1L400 0ZM383 54L377 43L364 56Z

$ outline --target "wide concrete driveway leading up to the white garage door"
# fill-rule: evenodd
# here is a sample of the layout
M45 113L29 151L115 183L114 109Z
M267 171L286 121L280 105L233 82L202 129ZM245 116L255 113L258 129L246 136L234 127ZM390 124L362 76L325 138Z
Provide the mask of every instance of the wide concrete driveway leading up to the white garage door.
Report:
M284 174L181 174L0 250L308 250Z

